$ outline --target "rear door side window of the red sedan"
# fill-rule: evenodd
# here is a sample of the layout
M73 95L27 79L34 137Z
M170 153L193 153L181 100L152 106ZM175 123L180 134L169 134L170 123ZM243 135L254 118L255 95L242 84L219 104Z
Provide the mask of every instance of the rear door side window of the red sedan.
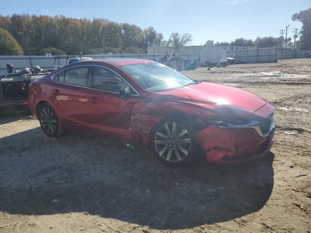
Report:
M58 82L86 86L87 70L88 67L74 67L67 69L59 73ZM62 73L64 73L64 75Z

